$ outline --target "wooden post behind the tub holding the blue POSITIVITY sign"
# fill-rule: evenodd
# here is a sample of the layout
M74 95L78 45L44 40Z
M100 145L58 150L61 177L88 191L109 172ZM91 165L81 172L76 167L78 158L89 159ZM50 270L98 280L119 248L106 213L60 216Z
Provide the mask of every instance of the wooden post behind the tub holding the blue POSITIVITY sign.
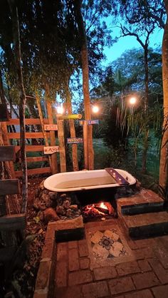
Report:
M72 106L71 103L66 103L67 104L67 110L68 114L72 114ZM75 138L75 125L74 125L74 120L69 119L69 125L70 125L70 138ZM79 170L78 167L78 145L73 144L72 145L72 156L73 156L73 170Z

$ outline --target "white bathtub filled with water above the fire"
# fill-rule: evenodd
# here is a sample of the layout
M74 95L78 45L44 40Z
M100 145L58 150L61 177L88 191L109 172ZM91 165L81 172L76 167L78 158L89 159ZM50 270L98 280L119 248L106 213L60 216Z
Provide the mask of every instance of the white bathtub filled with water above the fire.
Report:
M115 169L128 185L136 183L136 179L125 170ZM51 175L44 181L44 187L55 192L93 190L98 188L118 187L117 183L106 170L82 170Z

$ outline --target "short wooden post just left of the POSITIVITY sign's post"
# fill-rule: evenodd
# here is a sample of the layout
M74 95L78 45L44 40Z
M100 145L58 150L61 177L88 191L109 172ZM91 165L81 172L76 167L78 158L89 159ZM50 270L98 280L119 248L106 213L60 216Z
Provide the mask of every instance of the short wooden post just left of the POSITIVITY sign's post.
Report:
M66 158L65 158L65 141L64 141L64 132L63 132L63 120L57 118L58 125L58 140L60 148L60 166L61 172L66 172Z

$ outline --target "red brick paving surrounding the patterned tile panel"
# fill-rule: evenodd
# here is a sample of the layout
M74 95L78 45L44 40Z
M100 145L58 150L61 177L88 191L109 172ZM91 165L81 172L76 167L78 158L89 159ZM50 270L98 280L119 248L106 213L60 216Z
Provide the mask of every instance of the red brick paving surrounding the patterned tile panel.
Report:
M135 261L93 269L86 240L59 243L54 298L167 298L168 236L161 238L129 240Z

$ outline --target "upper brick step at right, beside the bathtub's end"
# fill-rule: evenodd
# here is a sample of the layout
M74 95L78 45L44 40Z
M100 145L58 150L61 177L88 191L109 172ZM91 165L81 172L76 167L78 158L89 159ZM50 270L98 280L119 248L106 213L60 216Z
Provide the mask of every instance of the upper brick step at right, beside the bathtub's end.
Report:
M136 215L141 213L159 212L163 210L164 200L152 190L142 189L131 197L117 199L119 215Z

